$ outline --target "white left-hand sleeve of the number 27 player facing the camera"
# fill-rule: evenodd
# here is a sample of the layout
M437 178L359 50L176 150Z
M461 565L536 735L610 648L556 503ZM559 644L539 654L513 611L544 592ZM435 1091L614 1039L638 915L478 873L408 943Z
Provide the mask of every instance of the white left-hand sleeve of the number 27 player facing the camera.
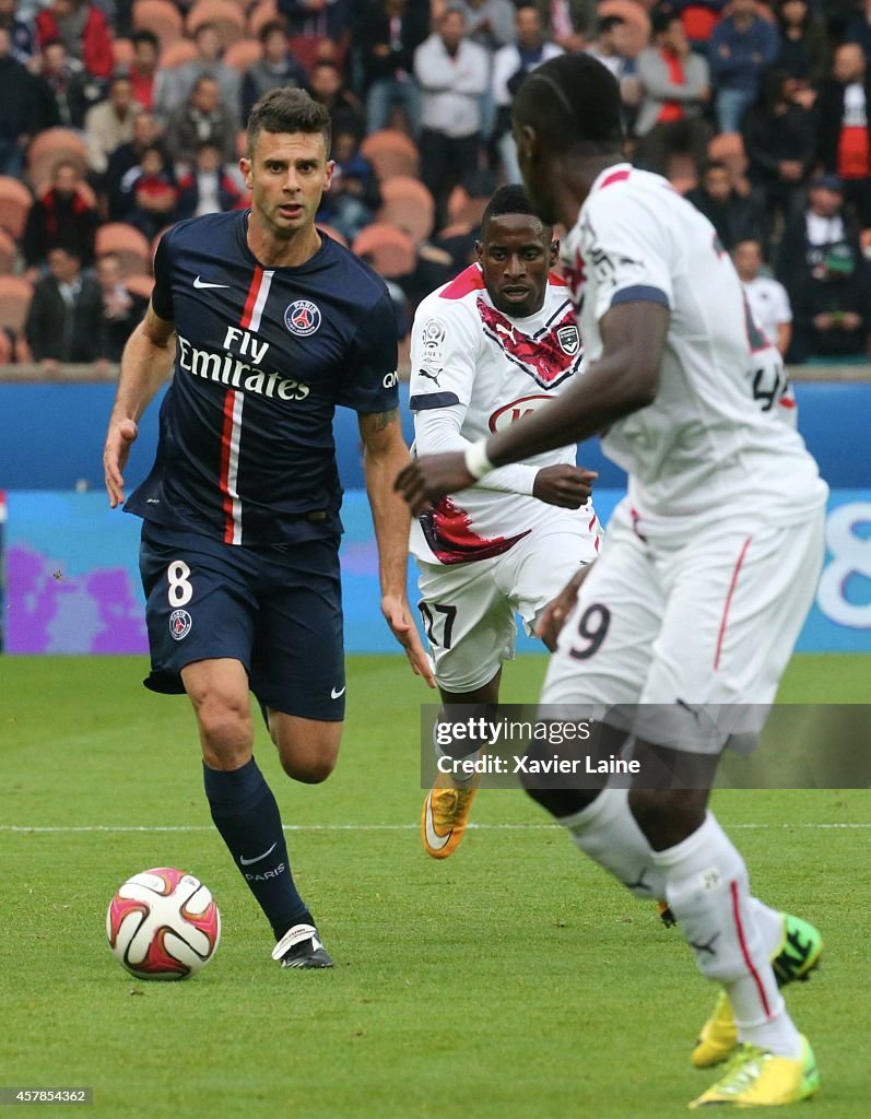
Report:
M421 304L411 328L412 412L461 404L465 415L481 338L457 303L427 300Z

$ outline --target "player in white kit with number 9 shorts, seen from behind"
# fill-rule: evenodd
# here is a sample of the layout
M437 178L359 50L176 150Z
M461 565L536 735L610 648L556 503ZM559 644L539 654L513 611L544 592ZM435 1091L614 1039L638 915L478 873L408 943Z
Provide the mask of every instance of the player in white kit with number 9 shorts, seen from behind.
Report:
M729 1063L691 1107L788 1104L816 1091L818 1073L779 985L806 976L820 934L753 897L706 806L724 740L759 730L813 600L827 489L768 391L755 395L741 286L713 227L622 161L611 75L586 55L544 64L517 94L514 131L530 197L571 229L589 369L509 431L419 459L397 487L420 513L597 432L626 467L627 497L602 556L574 580L542 702L637 705L635 718L617 712L611 741L634 734L633 756L678 787L652 787L643 767L628 791L530 791L629 888L667 900L699 969L721 985L693 1063ZM743 722L727 727L718 708Z

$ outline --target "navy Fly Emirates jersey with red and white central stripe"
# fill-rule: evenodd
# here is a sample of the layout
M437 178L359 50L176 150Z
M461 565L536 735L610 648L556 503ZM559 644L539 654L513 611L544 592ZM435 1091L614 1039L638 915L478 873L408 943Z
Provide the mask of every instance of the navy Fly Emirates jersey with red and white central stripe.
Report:
M178 332L157 459L125 505L227 544L340 532L337 404L399 404L396 327L383 280L335 241L264 269L247 210L180 222L160 242L151 303Z

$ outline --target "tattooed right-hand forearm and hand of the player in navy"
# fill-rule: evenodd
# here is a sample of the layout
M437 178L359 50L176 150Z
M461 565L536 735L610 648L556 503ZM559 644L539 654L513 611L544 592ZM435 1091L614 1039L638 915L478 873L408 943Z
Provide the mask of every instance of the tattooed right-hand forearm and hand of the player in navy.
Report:
M408 505L394 492L393 480L410 457L402 438L399 410L360 414L358 421L366 492L378 545L382 613L405 650L414 675L422 676L429 687L434 688L432 667L423 651L405 593L411 514Z

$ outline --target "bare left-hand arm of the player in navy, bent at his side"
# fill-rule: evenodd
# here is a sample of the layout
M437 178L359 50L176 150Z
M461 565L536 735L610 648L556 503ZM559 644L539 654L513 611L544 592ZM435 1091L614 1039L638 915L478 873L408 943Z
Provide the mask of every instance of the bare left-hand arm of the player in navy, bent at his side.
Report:
M151 305L128 339L103 450L103 472L111 508L124 501L124 468L137 438L137 423L166 380L176 352L175 327Z

